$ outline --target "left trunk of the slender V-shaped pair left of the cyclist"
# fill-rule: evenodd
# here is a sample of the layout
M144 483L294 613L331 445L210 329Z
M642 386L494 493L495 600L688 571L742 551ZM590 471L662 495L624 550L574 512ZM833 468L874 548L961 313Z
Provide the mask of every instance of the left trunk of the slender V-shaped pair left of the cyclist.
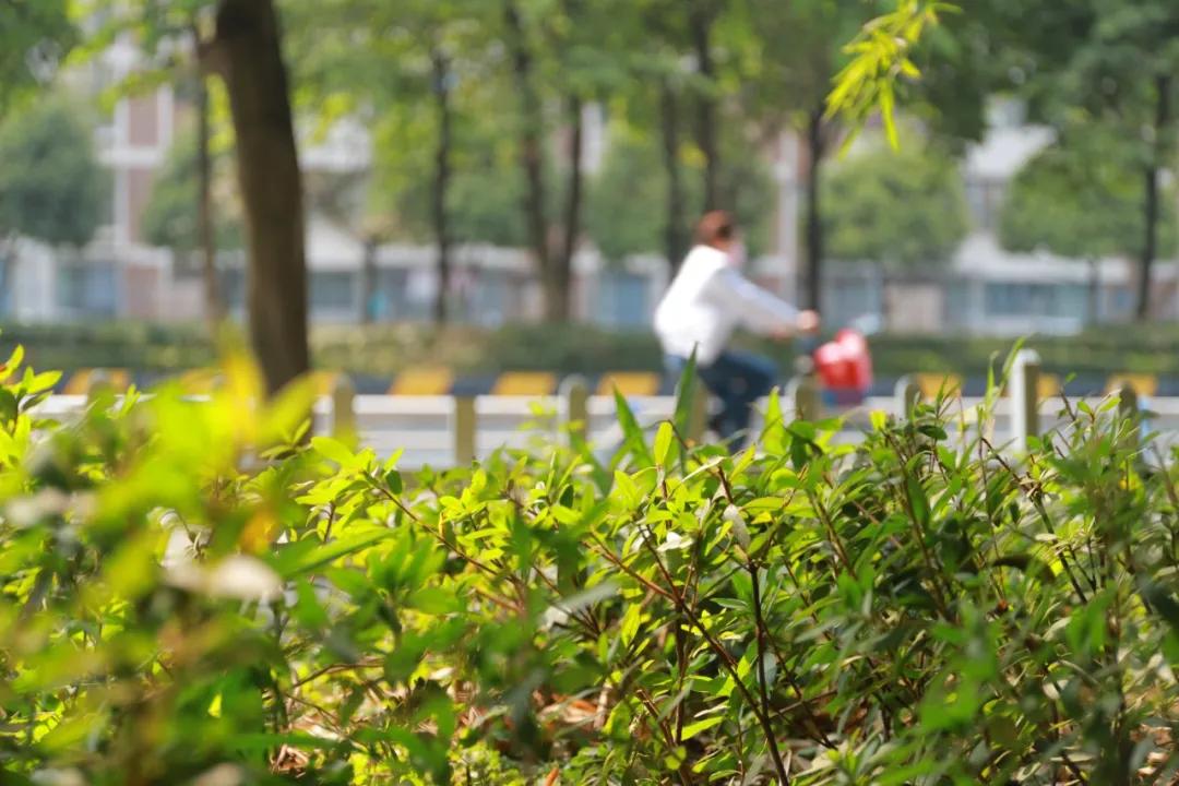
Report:
M545 159L541 145L542 118L540 98L533 85L533 58L525 39L523 21L514 0L503 6L507 22L507 45L512 55L512 71L520 93L520 167L525 176L523 212L528 245L536 262L545 293L545 319L568 319L568 291L560 291L553 271L553 255L548 240L548 219L545 214Z

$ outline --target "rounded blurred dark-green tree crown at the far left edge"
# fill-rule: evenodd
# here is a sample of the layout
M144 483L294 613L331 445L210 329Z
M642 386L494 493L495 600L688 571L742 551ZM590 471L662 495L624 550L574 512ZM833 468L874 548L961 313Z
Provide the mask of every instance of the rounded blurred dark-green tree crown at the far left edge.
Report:
M0 239L81 246L93 237L108 178L84 117L78 101L58 94L0 125Z

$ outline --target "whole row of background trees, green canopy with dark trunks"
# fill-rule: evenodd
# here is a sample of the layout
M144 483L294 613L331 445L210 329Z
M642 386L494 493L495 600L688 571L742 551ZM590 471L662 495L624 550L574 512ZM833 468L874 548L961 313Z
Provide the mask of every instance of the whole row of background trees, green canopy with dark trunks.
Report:
M1049 174L1016 183L1001 232L1010 247L1072 253L1078 235L1060 231L1066 219L1038 219L1046 189L1063 189L1052 202L1073 216L1117 200L1109 216L1124 218L1089 223L1086 232L1100 237L1086 256L1139 259L1142 315L1151 265L1170 249L1164 172L1174 164L1179 11L1165 0L984 0L963 13L922 0L79 5L85 13L73 20L53 0L5 26L0 98L35 87L79 40L84 52L97 49L116 32L141 41L154 81L184 86L195 130L146 225L152 239L204 260L212 319L222 311L216 247L242 238L255 346L264 363L279 358L268 370L272 387L305 365L305 350L285 349L305 346L304 192L370 249L393 237L432 242L439 321L448 316L452 250L466 242L528 249L546 317L562 321L586 238L608 258L659 252L674 266L692 218L723 206L742 217L755 250L764 247L773 202L764 153L792 130L805 161L799 291L816 304L830 257L901 264L948 255L966 222L954 157L982 134L986 99L1008 93L1058 131L1036 163ZM27 4L0 8L7 18ZM93 34L97 12L105 22ZM212 143L210 90L219 86L231 157ZM898 104L916 120L900 158L871 146L837 156L877 108L895 138ZM611 130L593 177L591 106ZM344 115L364 123L371 166L304 183L296 114L324 127ZM1094 157L1108 173L1091 177ZM233 161L229 178L222 170ZM225 210L231 191L239 210ZM198 207L185 214L186 204ZM371 258L365 270L375 275Z

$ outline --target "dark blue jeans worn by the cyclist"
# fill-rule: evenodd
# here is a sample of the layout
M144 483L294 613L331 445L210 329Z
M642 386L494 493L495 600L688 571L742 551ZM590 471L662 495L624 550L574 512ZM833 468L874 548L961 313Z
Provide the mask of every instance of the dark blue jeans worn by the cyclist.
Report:
M678 382L687 358L668 355L664 365ZM733 450L740 449L749 438L751 408L773 390L777 366L759 355L726 350L709 365L697 366L697 375L709 392L720 399L720 412L709 425Z

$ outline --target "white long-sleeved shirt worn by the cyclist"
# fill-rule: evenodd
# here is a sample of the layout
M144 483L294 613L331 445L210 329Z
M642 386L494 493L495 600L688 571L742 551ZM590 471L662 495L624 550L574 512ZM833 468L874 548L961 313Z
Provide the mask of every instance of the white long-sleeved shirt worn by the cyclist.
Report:
M667 355L700 365L716 361L737 328L769 333L790 330L798 309L753 284L729 255L707 245L692 249L656 309L656 333Z

